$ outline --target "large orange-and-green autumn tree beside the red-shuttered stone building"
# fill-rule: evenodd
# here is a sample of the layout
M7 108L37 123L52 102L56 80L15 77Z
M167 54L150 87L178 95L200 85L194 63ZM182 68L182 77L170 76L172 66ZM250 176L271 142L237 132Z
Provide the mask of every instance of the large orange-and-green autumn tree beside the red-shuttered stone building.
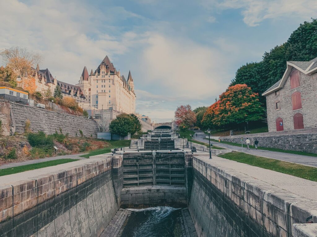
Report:
M258 121L263 117L258 94L252 92L246 84L230 86L219 96L209 113L211 118L204 119L218 127Z

